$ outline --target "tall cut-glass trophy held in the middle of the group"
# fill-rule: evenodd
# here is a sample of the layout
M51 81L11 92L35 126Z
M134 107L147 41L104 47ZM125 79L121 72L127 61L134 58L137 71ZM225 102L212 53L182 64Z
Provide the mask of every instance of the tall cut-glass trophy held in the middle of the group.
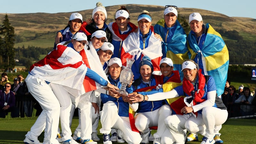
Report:
M118 92L123 95L128 95L128 92L125 91L126 86L129 85L132 81L132 64L135 60L133 59L126 59L126 68L124 68L120 73L120 83L122 84L120 90Z

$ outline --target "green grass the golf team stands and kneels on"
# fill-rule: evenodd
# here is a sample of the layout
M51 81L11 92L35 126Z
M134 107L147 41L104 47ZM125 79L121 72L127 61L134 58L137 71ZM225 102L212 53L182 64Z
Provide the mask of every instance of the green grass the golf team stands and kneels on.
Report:
M0 118L0 144L21 144L25 138L25 134L30 130L30 127L36 121L33 118ZM75 131L78 125L78 117L74 117L72 121L71 130ZM99 124L98 129L100 129ZM220 130L221 139L226 144L250 144L255 137L256 119L228 119ZM154 133L153 131L152 133ZM102 144L102 134L98 133L100 138L99 144ZM188 144L200 144L202 135L198 135L199 141L188 142ZM44 133L42 133L38 140L42 142ZM152 142L150 142L152 144Z

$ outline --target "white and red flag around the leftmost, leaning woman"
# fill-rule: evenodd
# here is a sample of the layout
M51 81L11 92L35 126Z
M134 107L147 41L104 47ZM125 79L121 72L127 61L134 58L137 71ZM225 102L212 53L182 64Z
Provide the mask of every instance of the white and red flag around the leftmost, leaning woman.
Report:
M86 71L79 53L61 44L30 67L33 76L74 89L77 94L84 92L82 84Z

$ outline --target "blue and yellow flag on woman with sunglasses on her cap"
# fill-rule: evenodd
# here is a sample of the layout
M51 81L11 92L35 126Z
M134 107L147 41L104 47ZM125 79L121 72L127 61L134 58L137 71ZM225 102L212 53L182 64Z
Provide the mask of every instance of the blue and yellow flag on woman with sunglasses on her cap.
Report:
M166 29L164 28L164 19L159 20L156 25L154 26L154 30L157 34L159 34L163 38L163 44L162 44L162 52L163 57L167 57L172 59L173 62L173 70L179 70L181 71L181 66L184 60L188 59L188 55L190 55L190 52L187 48L187 35L180 25L180 22L176 20L176 29L174 30L174 33L172 35L171 40L168 40L168 43L166 42L165 38L168 33L171 31L168 31L166 34ZM180 72L180 76L183 76L183 73Z

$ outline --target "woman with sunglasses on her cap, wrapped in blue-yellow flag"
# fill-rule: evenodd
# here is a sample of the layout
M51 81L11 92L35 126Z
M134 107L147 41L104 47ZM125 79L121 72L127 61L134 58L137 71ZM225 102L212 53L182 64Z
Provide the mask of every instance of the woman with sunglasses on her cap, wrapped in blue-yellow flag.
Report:
M171 58L173 61L173 70L180 72L183 78L181 65L188 59L190 52L187 48L187 35L177 20L177 6L166 5L164 9L164 19L159 20L154 26L154 31L159 34L162 41L162 58Z

